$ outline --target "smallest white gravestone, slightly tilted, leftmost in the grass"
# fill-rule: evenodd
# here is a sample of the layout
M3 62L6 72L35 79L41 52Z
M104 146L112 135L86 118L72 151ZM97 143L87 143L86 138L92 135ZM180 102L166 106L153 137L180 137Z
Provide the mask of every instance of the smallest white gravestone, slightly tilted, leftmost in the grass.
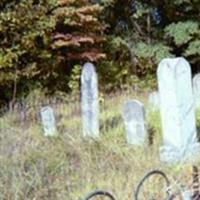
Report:
M57 135L56 122L53 109L50 106L41 108L42 125L45 136Z

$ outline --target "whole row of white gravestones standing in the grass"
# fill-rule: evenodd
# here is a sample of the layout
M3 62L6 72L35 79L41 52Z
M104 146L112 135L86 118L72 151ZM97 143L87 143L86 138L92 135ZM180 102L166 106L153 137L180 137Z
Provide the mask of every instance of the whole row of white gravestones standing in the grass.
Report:
M149 97L153 109L159 107L163 130L163 146L160 159L164 162L187 160L199 153L194 114L194 99L191 83L191 68L184 58L163 59L158 66L158 92ZM193 79L194 92L198 93ZM91 63L83 66L81 75L82 131L84 137L99 137L99 105L97 74ZM147 131L145 128L144 106L137 100L124 103L124 119L127 143L142 145ZM53 110L41 110L42 123L46 136L57 133Z

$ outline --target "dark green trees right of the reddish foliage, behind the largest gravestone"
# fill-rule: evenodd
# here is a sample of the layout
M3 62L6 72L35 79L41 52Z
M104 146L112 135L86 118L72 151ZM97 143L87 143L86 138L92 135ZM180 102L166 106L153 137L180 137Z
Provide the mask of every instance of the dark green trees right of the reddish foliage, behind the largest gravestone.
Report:
M114 45L110 46L112 50L108 52L108 60L116 63L113 67L119 69L118 63L122 64L129 77L138 77L138 84L145 85L143 82L146 81L146 85L152 83L152 87L156 86L157 65L165 57L184 56L192 64L193 71L198 70L199 1L109 2L105 21L110 25L108 30L114 41ZM131 53L129 57L120 56L119 59L118 56L112 56L113 48L119 48L119 41L127 44L121 51L128 50Z

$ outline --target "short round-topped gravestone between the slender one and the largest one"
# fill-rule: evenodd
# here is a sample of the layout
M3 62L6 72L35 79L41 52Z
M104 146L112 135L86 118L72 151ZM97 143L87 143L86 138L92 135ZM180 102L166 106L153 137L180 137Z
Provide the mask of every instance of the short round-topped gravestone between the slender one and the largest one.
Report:
M144 106L137 100L125 102L122 110L128 144L142 145L146 137Z

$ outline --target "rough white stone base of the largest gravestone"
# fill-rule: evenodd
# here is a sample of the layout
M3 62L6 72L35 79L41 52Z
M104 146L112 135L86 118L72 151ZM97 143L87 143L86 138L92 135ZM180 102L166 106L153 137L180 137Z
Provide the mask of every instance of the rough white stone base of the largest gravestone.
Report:
M193 161L200 153L200 143L192 143L184 147L161 146L160 160L165 163L181 163Z

